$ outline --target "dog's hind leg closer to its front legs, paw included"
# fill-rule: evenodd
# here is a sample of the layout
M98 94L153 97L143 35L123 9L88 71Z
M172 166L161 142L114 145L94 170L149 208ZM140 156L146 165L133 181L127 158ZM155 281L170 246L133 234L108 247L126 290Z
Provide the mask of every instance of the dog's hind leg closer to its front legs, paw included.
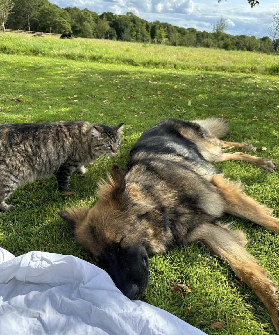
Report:
M219 154L215 158L215 162L223 162L224 160L245 160L247 162L254 163L260 167L263 167L266 170L275 172L276 171L276 164L265 157L256 157L251 156L243 152L227 152Z

